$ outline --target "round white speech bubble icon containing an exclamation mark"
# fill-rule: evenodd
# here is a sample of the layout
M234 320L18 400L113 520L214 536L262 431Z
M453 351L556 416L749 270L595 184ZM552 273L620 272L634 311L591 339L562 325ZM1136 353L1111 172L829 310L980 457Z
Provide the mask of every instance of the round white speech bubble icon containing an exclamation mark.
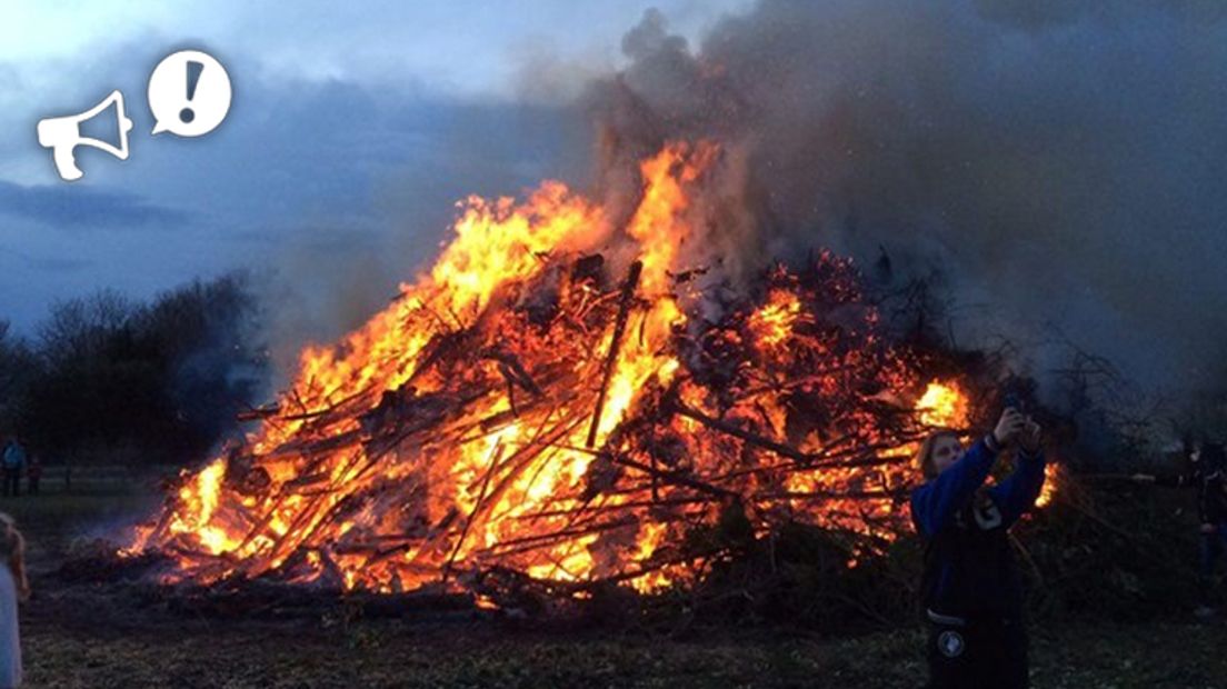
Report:
M212 55L200 50L167 55L150 75L153 134L209 134L226 119L231 94L229 75Z

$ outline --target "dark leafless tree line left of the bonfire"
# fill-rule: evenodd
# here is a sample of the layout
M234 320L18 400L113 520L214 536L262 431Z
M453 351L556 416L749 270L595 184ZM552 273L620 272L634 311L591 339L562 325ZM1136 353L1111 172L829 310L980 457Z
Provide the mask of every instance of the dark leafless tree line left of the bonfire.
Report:
M202 459L267 378L245 273L135 302L55 303L29 336L0 320L0 435L50 463Z

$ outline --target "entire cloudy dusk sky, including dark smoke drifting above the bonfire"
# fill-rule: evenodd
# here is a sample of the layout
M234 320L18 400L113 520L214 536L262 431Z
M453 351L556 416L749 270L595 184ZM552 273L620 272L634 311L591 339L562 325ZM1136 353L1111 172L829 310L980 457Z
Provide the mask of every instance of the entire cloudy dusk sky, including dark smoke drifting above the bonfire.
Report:
M1227 380L1225 37L1216 0L26 2L0 22L0 319L252 268L272 341L331 340L458 200L590 181L580 96L623 71L659 123L712 125L672 135L736 129L791 256L939 267L961 335L1056 342L1043 365L1071 342L1156 387ZM189 48L229 114L151 136L150 74ZM702 65L747 119L710 116ZM61 181L36 124L117 88L130 158L79 148Z

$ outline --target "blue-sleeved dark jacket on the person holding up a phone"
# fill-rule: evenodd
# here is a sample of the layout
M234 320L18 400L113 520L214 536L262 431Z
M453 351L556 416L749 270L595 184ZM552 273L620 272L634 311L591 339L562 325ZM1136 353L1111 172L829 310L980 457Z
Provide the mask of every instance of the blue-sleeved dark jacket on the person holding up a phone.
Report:
M1022 613L1022 584L1007 531L1039 497L1044 456L1020 450L1014 472L983 488L996 457L991 439L978 440L912 492L912 522L925 541L921 602L934 613L963 618Z

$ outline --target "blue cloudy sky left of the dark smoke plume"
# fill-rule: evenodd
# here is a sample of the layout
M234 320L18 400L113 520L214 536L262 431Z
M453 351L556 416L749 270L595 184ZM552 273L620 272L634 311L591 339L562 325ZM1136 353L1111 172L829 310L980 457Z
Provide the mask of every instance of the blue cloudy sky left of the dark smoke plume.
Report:
M588 132L558 112L587 76L621 64L621 37L645 9L694 40L747 5L7 4L0 319L32 332L55 299L101 287L146 298L253 265L344 291L328 275L340 255L358 255L339 261L346 270L379 256L377 286L409 278L460 196L583 174L574 143ZM226 65L234 101L207 136L153 137L148 75L183 48ZM77 148L85 178L60 181L37 121L114 88L135 123L129 159ZM389 248L405 255L389 261Z

